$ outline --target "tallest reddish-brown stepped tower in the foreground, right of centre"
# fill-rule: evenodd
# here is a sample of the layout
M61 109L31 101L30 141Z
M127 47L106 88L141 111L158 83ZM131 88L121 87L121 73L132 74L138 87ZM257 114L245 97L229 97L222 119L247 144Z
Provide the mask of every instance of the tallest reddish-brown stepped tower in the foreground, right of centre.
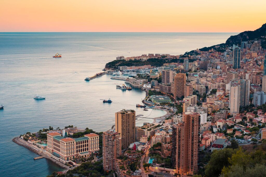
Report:
M200 114L186 112L182 120L173 125L172 164L178 174L193 174L198 171Z

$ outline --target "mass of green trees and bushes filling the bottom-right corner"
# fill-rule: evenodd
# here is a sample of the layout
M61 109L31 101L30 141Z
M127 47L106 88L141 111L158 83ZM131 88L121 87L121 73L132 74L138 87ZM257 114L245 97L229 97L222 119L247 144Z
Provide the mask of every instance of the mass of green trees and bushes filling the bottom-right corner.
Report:
M237 143L222 150L214 150L205 172L207 177L266 176L266 141L237 148Z

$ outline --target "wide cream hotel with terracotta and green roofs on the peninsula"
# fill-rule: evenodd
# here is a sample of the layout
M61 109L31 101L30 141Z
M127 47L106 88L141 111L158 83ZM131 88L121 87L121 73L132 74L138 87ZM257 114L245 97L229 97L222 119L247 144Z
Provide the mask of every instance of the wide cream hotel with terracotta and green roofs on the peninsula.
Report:
M80 138L68 138L60 133L47 133L47 152L60 158L62 161L71 161L75 158L89 157L99 150L99 135L90 133Z

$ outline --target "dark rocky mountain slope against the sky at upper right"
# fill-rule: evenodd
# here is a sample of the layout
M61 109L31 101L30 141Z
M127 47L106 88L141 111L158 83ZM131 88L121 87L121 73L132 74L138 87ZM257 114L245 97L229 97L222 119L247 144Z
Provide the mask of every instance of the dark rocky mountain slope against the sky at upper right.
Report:
M256 38L260 38L261 36L266 36L266 23L263 24L259 29L256 29L255 31L244 31L242 33L239 33L235 36L230 36L225 44L226 45L233 45L233 44L241 44L242 41L248 41L248 40L254 40Z

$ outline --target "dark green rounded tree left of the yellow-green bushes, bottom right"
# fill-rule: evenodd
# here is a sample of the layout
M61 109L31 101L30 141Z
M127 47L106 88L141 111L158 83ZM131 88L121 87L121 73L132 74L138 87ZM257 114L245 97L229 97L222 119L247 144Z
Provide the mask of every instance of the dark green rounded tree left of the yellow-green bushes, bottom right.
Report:
M214 150L208 165L205 167L205 174L208 177L218 177L223 167L228 167L230 165L228 158L232 157L233 152L231 148Z

